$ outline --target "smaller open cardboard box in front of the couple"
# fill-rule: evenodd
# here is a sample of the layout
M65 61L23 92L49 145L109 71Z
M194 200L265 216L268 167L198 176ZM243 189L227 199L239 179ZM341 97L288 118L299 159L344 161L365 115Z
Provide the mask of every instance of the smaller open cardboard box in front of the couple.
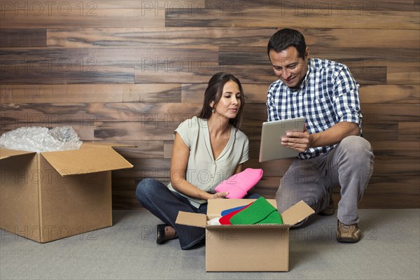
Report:
M289 228L314 214L299 202L281 214L283 225L207 225L221 211L255 200L209 200L207 215L180 211L176 223L206 228L206 271L288 271ZM276 207L275 200L267 200Z

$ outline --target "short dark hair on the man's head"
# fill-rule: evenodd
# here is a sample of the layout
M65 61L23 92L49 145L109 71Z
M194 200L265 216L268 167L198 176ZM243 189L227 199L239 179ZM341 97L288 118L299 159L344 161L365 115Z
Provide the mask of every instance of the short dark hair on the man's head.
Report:
M306 50L304 36L299 31L289 28L280 29L279 31L276 31L271 38L269 38L267 55L269 57L270 50L281 52L282 50L286 50L288 47L295 47L299 53L299 57L304 59L304 53Z

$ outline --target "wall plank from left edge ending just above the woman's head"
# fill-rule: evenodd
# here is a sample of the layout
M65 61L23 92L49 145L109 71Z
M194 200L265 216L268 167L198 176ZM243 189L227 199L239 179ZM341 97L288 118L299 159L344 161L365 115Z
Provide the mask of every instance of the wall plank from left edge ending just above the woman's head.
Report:
M87 61L87 58L92 61ZM177 69L179 62L217 61L218 52L216 47L194 50L167 47L2 48L0 59L3 62L2 71L11 68L41 72L57 67L64 72L69 71L73 65L78 66L80 71L94 71L96 66L113 65L171 71L171 67Z

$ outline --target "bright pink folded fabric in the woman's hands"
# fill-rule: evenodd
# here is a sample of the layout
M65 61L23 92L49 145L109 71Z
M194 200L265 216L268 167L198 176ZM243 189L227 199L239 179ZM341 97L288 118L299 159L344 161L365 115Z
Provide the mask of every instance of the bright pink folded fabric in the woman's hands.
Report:
M247 168L230 176L216 187L217 193L229 192L227 198L242 198L262 178L262 169Z

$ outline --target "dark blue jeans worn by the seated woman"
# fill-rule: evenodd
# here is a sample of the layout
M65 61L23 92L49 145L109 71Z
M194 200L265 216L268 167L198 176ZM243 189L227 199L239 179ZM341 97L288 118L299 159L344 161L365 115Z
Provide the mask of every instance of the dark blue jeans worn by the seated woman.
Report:
M190 204L186 197L169 190L163 183L151 178L144 179L137 185L136 197L144 208L176 230L183 250L204 241L206 237L204 228L178 225L175 221L179 211L207 214L207 203L201 204L200 208L197 209ZM244 198L258 197L260 195L251 194Z

